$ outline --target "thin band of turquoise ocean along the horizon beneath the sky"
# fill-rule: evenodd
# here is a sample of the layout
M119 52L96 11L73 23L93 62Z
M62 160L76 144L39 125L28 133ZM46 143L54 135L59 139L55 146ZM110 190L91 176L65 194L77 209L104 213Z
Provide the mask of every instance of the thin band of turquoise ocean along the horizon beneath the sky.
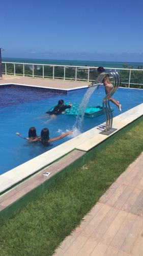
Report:
M104 68L123 68L126 63L128 68L136 69L138 66L143 67L143 62L113 62L113 61L90 61L90 60L62 60L62 59L27 59L27 58L4 58L2 61L6 62L20 62L20 63L37 63L37 64L52 64L63 66L88 66L88 67L104 67Z

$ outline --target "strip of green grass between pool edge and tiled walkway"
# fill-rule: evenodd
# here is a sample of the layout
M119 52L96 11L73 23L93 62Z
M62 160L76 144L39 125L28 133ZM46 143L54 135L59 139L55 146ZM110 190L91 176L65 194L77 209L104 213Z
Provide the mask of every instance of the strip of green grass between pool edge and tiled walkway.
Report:
M107 188L143 151L143 121L1 223L0 255L52 255Z

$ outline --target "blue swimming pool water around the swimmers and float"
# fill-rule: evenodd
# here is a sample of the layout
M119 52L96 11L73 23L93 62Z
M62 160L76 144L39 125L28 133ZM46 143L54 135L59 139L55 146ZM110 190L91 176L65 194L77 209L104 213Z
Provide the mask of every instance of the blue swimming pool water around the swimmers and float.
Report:
M53 142L52 146L43 146L39 142L30 143L15 135L16 132L27 137L28 129L35 126L37 134L43 127L48 127L50 138L59 136L62 132L72 130L76 117L59 115L56 120L49 123L45 112L56 105L59 99L71 103L80 103L87 89L68 92L66 95L55 95L52 93L36 92L18 88L6 88L0 90L0 174L24 163L69 139L70 136ZM89 101L89 106L102 104L105 96L104 88L95 90ZM120 88L114 98L122 103L122 113L143 102L143 90L132 90ZM113 106L113 116L121 114L118 108ZM105 116L94 119L85 117L82 131L85 132L92 127L105 121ZM86 139L86 138L85 138Z

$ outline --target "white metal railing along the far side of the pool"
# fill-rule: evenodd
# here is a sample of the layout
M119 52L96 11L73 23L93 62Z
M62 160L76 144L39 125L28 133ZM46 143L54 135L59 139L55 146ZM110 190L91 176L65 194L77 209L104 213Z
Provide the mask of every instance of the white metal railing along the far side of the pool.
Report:
M48 65L38 63L3 62L3 74L50 79L92 82L97 78L97 67ZM106 68L118 71L121 86L143 89L143 69Z

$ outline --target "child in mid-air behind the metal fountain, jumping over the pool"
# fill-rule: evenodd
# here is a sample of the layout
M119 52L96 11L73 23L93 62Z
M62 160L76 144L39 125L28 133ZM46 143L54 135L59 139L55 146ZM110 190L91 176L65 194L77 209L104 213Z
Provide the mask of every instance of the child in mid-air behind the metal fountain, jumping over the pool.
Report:
M105 72L105 69L104 69L103 67L99 67L99 68L97 69L97 73L98 73L98 74L101 74L102 72ZM110 79L109 79L109 75L108 75L108 74L103 78L102 82L103 82L103 84L104 84L105 93L106 93L106 95L107 95L107 94L110 93L110 91L111 91L112 88L113 88L113 85L112 85L112 83L111 83L111 81L110 81ZM122 111L122 109L121 109L121 104L119 104L119 101L118 101L118 100L115 100L115 99L113 99L113 98L110 98L109 100L110 100L112 103L114 103L115 105L117 105L118 108L119 108L119 110Z

